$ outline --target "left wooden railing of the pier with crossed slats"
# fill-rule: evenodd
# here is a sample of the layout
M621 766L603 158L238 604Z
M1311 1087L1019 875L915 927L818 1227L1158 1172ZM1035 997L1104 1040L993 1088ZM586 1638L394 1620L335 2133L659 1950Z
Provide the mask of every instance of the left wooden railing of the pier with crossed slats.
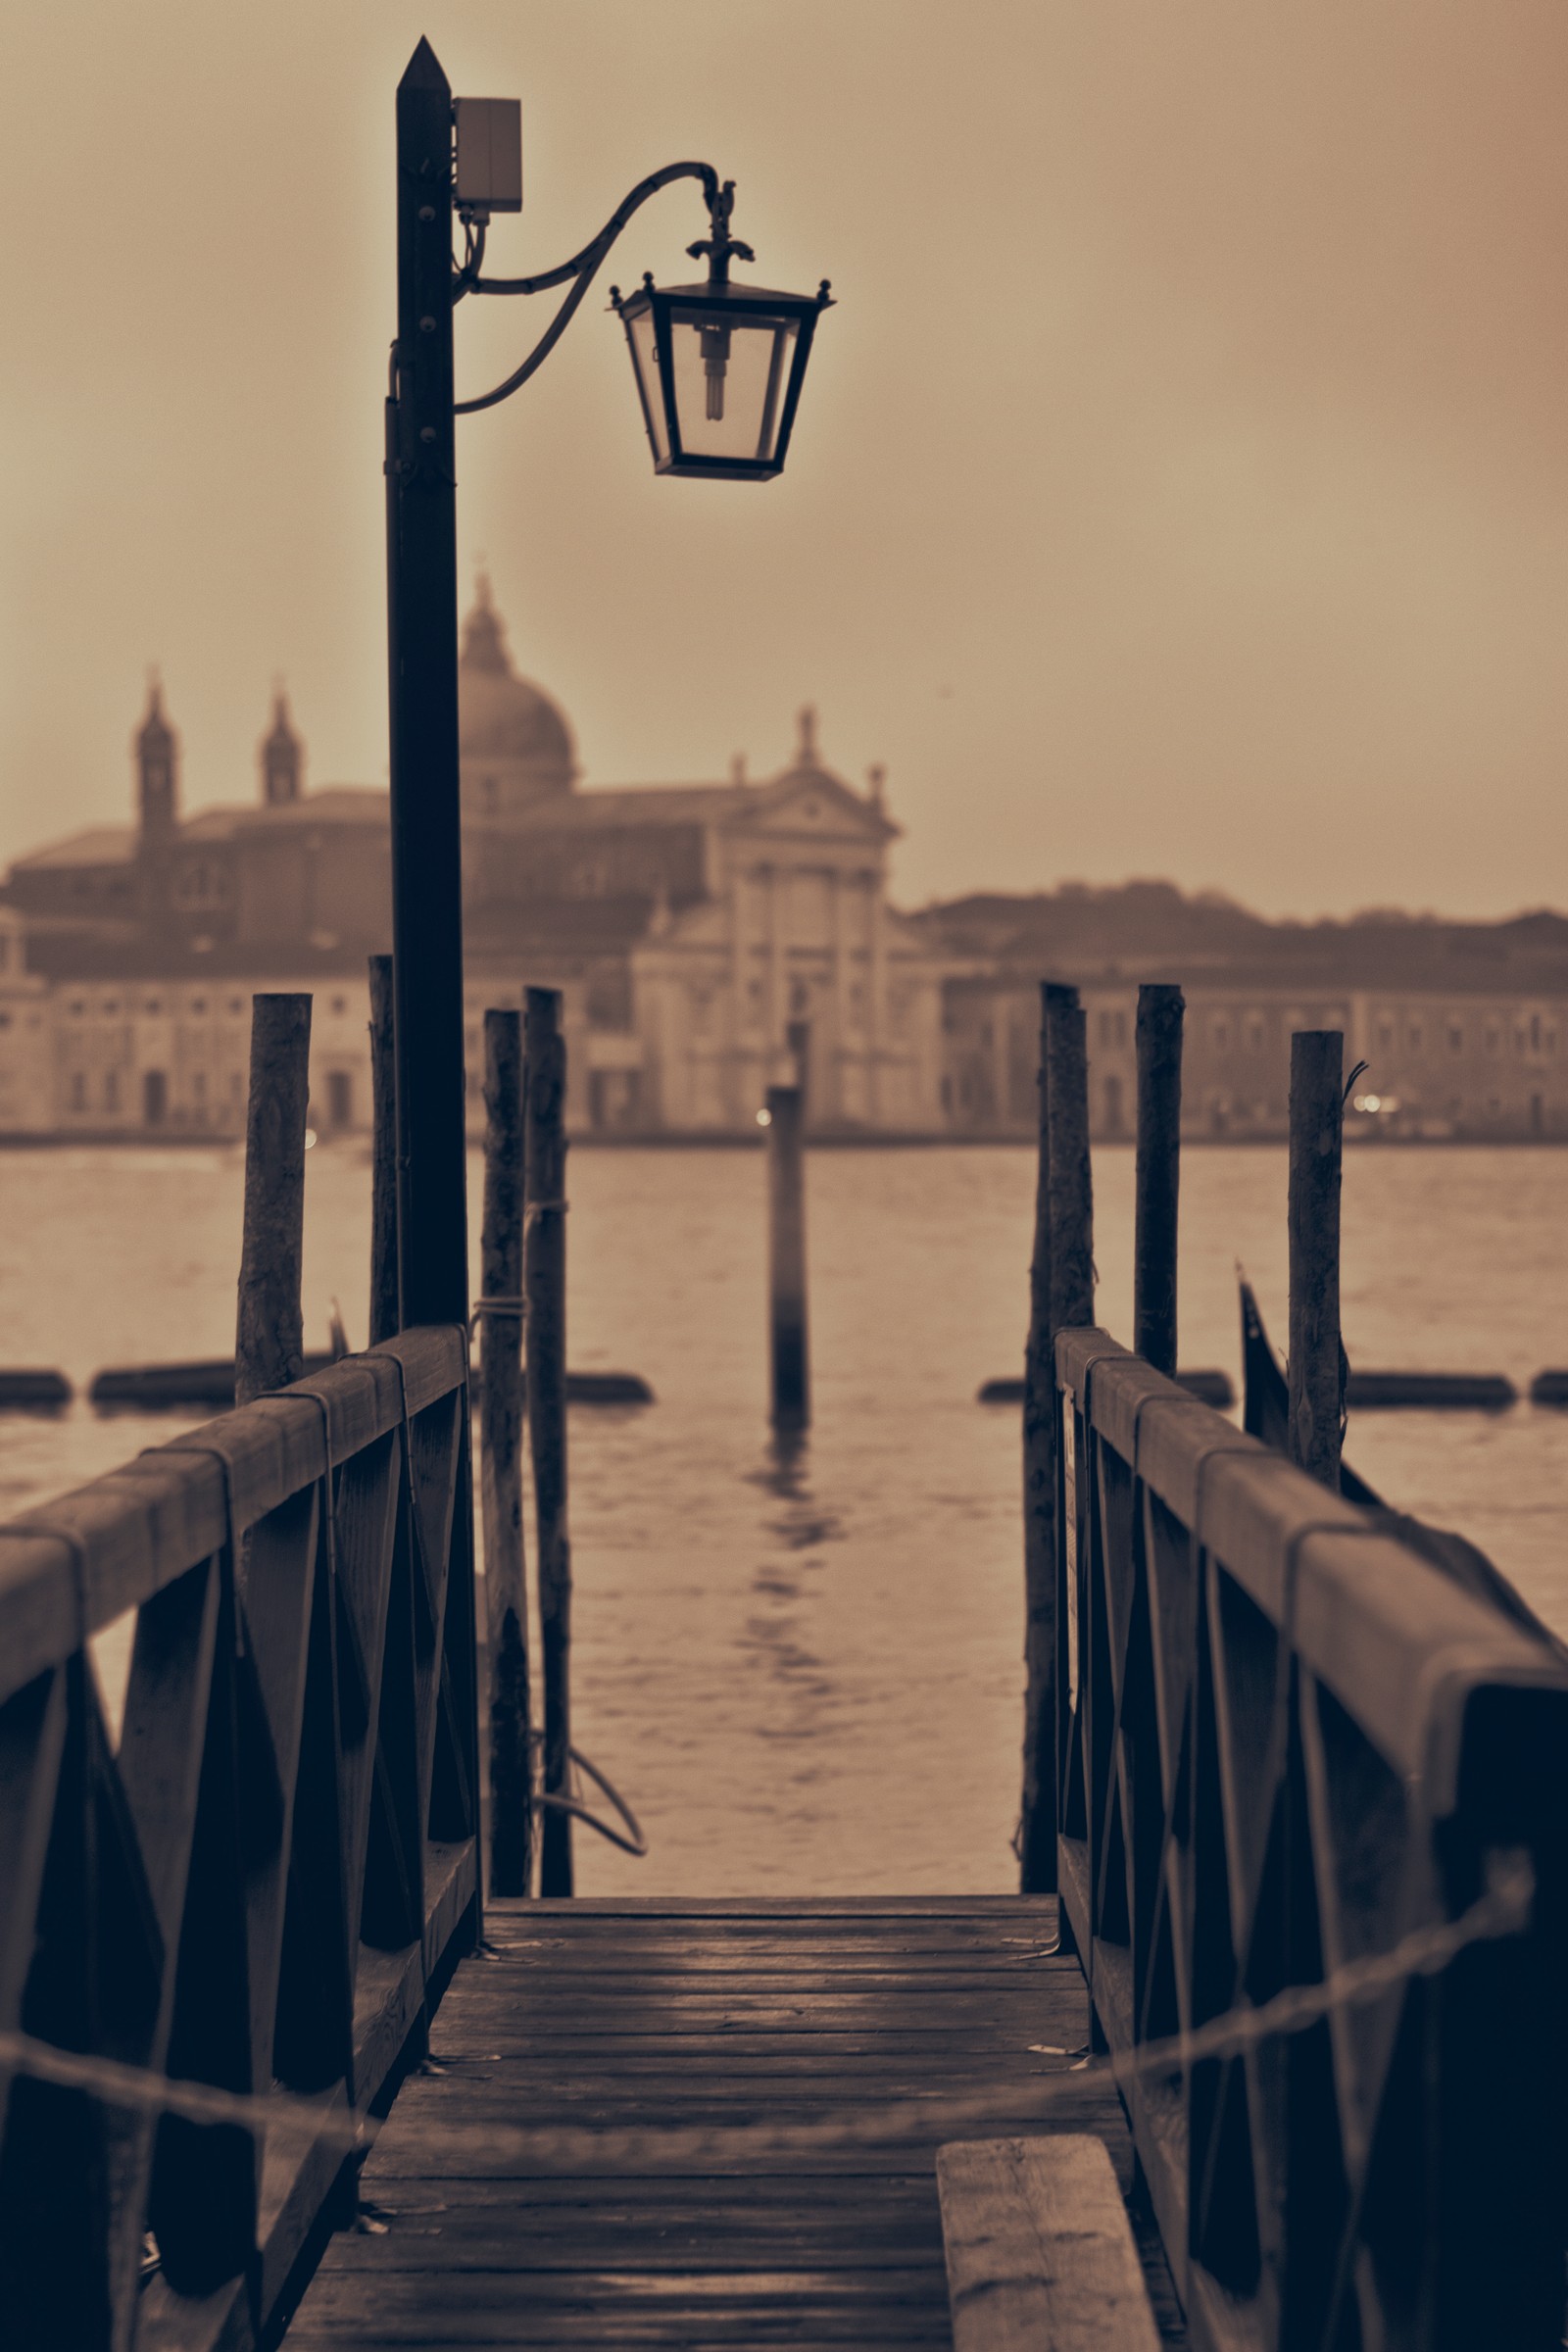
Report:
M7 2347L247 2345L341 2211L343 2110L477 1936L468 1489L465 1336L423 1329L0 1526ZM155 2119L16 2034L294 2096Z

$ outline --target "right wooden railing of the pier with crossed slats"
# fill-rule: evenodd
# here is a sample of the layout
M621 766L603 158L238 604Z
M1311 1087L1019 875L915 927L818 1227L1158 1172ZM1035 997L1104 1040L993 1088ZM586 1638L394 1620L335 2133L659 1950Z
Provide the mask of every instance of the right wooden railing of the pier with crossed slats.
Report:
M1058 1371L1058 1865L1112 2051L1528 1933L1128 2089L1197 2347L1563 2340L1568 1675L1103 1331ZM1519 1872L1516 1872L1519 1875Z

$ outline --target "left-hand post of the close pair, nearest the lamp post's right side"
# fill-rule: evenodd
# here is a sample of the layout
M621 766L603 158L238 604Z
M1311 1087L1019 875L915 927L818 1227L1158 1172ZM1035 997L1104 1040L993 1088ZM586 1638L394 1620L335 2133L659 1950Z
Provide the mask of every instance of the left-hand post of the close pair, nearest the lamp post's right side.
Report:
M529 1595L522 1545L522 1014L484 1014L480 1242L480 1505L489 1630L489 1886L527 1896L534 1867Z

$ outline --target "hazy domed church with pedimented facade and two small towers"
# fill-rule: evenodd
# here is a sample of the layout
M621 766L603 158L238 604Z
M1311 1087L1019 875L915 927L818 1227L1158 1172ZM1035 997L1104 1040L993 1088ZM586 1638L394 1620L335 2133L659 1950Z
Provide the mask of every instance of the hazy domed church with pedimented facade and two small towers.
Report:
M804 710L790 764L750 783L583 788L571 729L512 668L480 586L461 644L468 1089L484 1007L529 983L567 1002L576 1131L743 1134L802 1065L818 1131L943 1122L952 964L886 903L898 835L882 774L853 790ZM313 1120L369 1124L367 955L390 946L388 795L306 788L282 694L259 793L183 814L153 684L136 804L24 856L0 913L31 1028L0 1028L0 1131L235 1136L249 995L303 988ZM0 1007L2 1009L2 1007ZM7 1075L7 1040L31 1037Z

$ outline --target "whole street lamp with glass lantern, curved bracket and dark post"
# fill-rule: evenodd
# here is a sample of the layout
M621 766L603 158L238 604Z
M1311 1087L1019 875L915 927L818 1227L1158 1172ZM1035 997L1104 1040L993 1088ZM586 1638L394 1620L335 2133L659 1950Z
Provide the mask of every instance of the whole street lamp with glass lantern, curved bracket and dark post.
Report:
M456 129L456 158L454 158ZM487 278L496 212L522 207L520 108L458 99L421 40L397 85L397 341L386 402L388 677L393 774L393 1002L397 1040L400 1319L468 1322L463 861L458 823L458 583L454 416L520 390L548 360L599 263L677 179L703 183L708 280L651 278L611 301L632 350L656 473L771 480L783 470L827 280L811 296L731 285L750 247L729 233L733 181L705 162L649 174L559 268ZM463 259L454 256L454 212ZM567 294L527 360L477 400L454 397L451 320L470 294Z

